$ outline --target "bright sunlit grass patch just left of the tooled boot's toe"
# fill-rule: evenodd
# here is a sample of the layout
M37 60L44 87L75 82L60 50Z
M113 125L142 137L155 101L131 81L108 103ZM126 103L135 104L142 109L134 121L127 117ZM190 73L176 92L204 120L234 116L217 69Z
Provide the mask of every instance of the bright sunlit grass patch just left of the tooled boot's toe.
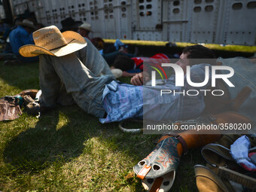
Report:
M125 181L133 162L117 149L108 139L90 138L84 142L83 155L66 163L59 175L76 181L81 190L133 191Z

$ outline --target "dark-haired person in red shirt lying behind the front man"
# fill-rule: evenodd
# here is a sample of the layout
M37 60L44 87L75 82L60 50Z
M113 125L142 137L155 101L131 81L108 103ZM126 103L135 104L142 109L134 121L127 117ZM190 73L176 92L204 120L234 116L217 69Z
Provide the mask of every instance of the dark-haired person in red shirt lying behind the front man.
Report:
M151 57L128 57L124 55L117 56L114 60L114 66L111 69L120 69L123 71L123 77L133 77L138 72L143 71L143 63L151 62L153 65L160 65L161 63L168 63L169 58L163 53L157 53ZM130 72L126 72L130 71Z

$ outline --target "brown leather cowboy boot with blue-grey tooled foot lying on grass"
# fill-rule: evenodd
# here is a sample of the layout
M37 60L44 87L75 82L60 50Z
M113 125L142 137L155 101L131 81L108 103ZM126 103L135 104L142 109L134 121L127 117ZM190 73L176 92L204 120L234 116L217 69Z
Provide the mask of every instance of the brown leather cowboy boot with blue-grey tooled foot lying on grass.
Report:
M191 123L191 120L187 122ZM197 124L204 123L210 125L219 123L248 123L251 121L236 112L225 112L212 116L199 117L195 122ZM215 130L215 132L212 132L212 130L187 130L179 134L167 134L160 138L151 154L134 166L133 170L136 172L137 177L143 180L143 184L151 185L151 187L154 187L154 180L152 181L152 179L148 178L165 178L167 173L173 172L172 181L169 181L168 188L163 186L163 183L161 184L162 189L166 188L166 190L169 190L175 179L175 170L178 168L181 154L186 153L190 148L198 148L215 142L219 138L221 138L221 132L219 130ZM157 185L160 185L159 182ZM151 187L148 187L148 189Z

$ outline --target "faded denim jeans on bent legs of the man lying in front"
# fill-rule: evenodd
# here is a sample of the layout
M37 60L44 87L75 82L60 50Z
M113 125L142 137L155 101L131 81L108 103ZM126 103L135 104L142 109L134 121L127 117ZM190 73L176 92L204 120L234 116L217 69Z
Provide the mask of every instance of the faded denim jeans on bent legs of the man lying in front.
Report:
M45 106L56 105L59 93L69 93L87 113L104 116L102 92L114 76L89 40L87 47L76 53L59 57L41 55L39 59L39 84Z

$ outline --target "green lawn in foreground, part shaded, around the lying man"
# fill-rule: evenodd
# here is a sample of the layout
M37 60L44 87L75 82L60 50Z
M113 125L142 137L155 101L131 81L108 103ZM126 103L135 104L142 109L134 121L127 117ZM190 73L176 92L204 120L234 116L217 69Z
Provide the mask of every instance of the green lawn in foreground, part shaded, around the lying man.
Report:
M0 98L26 89L39 89L38 63L0 63ZM76 105L40 119L23 110L17 120L0 122L0 190L143 191L133 166L159 138L122 133L117 123L99 123ZM203 163L199 149L181 157L173 191L197 191L197 163Z

